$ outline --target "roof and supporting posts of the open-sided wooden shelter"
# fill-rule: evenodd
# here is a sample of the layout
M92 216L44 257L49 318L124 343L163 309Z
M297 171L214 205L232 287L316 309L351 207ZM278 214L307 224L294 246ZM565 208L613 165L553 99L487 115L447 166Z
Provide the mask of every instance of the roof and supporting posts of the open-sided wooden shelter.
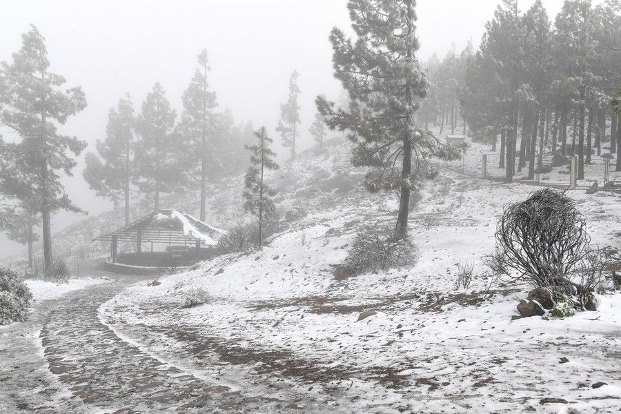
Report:
M110 262L117 263L119 259L119 243L135 243L135 255L132 256L132 265L153 266L152 256L142 251L144 244L150 244L150 253L153 254L153 245L166 245L166 255L159 261L166 259L183 259L188 262L192 256L194 262L202 259L202 250L212 250L217 246L225 230L210 226L204 221L177 210L157 210L137 219L129 226L115 230L112 233L101 235L93 241L110 242ZM206 249L202 248L206 246ZM139 258L142 258L142 260ZM138 259L137 259L138 258ZM122 261L119 261L122 262Z

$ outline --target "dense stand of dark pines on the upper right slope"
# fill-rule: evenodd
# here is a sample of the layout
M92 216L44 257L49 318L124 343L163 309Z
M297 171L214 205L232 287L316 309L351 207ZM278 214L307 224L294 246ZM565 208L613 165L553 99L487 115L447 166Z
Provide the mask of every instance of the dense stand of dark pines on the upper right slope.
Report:
M418 119L453 132L458 109L475 139L500 151L507 181L515 166L533 178L544 152L576 155L583 179L594 153L615 154L621 144L610 105L620 62L621 1L565 0L552 23L541 0L526 12L503 0L476 52L427 62L431 86Z

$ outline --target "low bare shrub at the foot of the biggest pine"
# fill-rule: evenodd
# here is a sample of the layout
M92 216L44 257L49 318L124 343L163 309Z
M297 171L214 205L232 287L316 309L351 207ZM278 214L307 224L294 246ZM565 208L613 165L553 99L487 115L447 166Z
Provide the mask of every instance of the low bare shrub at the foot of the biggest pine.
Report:
M415 262L415 249L407 240L393 238L392 228L365 228L357 234L343 266L353 275L400 268Z

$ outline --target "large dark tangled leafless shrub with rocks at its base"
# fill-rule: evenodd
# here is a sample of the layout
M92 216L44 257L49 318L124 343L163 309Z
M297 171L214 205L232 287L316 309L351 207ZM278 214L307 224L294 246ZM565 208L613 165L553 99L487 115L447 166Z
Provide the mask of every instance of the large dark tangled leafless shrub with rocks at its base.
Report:
M605 260L592 250L586 219L575 202L551 189L510 204L496 229L496 250L487 263L499 275L526 277L548 289L555 302L584 308L602 281Z

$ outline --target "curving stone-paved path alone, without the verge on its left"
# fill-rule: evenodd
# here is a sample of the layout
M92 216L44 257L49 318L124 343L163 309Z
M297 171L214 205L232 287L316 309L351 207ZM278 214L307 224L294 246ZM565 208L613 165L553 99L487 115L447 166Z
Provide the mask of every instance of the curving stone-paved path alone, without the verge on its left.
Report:
M41 330L50 371L73 395L106 413L235 412L261 404L260 398L161 362L102 324L99 305L122 287L115 283L73 295L48 315Z

